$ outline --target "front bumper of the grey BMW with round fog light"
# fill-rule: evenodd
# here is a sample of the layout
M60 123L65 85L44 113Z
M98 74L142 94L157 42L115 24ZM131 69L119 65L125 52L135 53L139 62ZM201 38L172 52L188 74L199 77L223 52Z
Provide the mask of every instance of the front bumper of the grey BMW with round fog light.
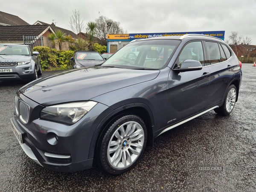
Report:
M32 160L57 172L76 172L93 166L93 158L89 158L90 145L100 122L100 119L97 119L99 110L108 109L106 105L97 104L95 109L89 111L74 125L64 125L40 119L39 114L44 106L28 99L20 92L17 93L17 97L30 107L29 122L21 122L16 112L11 122L13 130L17 130L15 135L17 132L21 135L21 139L18 140L23 151Z

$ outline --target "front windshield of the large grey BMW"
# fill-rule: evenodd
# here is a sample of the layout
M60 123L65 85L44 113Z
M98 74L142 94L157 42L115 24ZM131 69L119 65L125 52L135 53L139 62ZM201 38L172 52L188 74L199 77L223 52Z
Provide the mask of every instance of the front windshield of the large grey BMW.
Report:
M178 40L133 42L117 51L102 66L160 69L166 65L166 62L179 44L180 41Z

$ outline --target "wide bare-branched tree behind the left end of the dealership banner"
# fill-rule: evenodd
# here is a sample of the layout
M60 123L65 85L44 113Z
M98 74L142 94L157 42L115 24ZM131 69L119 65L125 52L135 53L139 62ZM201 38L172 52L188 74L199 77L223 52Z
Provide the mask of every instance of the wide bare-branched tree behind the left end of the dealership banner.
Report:
M122 34L124 30L120 26L119 21L113 21L105 16L99 16L95 20L96 22L96 35L100 39L100 44L107 45L107 34ZM107 23L111 23L111 26L107 26Z

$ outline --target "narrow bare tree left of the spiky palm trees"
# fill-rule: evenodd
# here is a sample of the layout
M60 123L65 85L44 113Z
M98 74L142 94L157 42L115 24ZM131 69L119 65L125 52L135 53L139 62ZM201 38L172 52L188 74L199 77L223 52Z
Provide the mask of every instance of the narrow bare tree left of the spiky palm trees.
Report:
M76 34L79 34L84 29L84 19L81 19L79 10L73 11L73 15L70 17L69 25L72 31ZM78 38L78 37L76 37Z

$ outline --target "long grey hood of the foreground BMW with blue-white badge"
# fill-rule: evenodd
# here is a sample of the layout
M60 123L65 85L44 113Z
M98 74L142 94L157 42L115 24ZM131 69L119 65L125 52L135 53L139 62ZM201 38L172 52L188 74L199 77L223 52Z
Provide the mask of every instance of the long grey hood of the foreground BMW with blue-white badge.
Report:
M21 87L20 92L44 106L84 101L113 90L150 81L156 78L159 72L160 70L85 67L32 81Z

